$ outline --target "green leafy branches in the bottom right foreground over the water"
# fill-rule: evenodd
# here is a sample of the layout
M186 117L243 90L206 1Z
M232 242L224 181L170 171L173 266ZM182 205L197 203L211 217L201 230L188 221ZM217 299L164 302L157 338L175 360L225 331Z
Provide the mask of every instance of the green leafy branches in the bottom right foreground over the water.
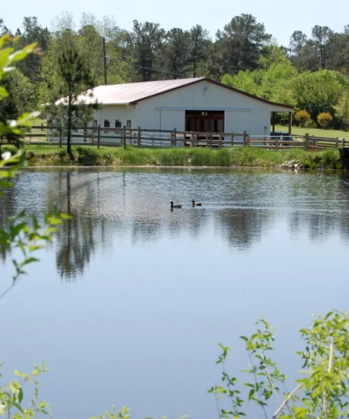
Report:
M349 316L332 311L315 316L310 328L300 330L305 348L297 352L302 361L302 376L292 391L286 390L287 377L281 374L272 359L274 334L265 320L257 322L258 330L251 337L242 336L249 367L242 371L249 379L240 384L226 370L230 347L220 344L221 355L216 362L222 367L222 385L209 392L218 399L227 398L230 409L221 409L220 418L239 419L245 416L244 406L256 404L262 416L273 419L339 419L349 414ZM248 389L244 397L243 388ZM283 402L281 402L281 397ZM279 408L270 415L268 405L276 399Z

